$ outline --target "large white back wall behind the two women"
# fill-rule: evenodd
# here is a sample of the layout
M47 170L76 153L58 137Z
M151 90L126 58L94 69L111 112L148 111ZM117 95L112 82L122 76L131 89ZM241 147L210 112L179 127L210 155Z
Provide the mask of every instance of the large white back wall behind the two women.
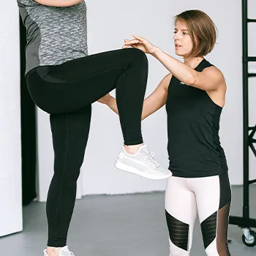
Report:
M254 6L252 6L254 4ZM249 0L250 14L256 3ZM89 53L121 48L125 38L132 34L146 37L149 41L174 56L173 16L189 9L208 13L219 29L218 44L208 60L222 69L227 80L227 104L222 114L220 137L225 148L232 184L242 183L242 65L241 65L241 1L233 0L184 0L176 1L87 1ZM252 36L250 37L252 39ZM252 50L253 42L250 44ZM253 52L252 52L253 53ZM256 55L256 53L254 53ZM148 56L149 75L146 96L167 73L165 67ZM254 94L255 95L255 94ZM255 102L255 100L254 100ZM253 99L250 108L254 108ZM48 115L38 111L39 123L39 200L46 199L53 173ZM255 124L250 112L250 122ZM143 137L156 159L167 167L167 129L165 109L159 110L143 121ZM165 189L165 181L150 181L113 167L122 143L118 116L99 103L93 105L91 132L85 161L81 168L81 195L119 194ZM252 159L251 170L255 167ZM255 178L256 173L252 173Z

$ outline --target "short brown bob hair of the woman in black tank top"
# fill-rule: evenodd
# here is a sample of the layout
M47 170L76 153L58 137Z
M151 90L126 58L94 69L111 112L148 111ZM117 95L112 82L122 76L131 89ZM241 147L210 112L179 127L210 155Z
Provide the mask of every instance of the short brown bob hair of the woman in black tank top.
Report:
M211 53L217 39L217 27L205 12L187 10L175 16L175 24L177 20L186 24L192 38L193 48L189 56L199 57Z

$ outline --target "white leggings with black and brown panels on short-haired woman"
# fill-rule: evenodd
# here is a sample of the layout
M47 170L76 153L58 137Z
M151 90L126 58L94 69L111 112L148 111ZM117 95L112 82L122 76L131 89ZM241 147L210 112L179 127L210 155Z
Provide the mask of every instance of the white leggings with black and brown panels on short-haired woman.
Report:
M197 214L206 254L229 256L227 227L230 202L227 173L203 178L170 177L165 194L170 256L189 255Z

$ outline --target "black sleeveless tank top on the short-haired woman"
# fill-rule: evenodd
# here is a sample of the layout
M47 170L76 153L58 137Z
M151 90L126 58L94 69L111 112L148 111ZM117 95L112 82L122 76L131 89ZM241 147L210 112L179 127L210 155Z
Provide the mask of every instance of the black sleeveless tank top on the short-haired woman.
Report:
M211 66L203 59L195 70L202 72ZM222 108L207 92L187 86L173 76L166 111L169 169L173 176L196 178L226 173L225 153L219 142Z

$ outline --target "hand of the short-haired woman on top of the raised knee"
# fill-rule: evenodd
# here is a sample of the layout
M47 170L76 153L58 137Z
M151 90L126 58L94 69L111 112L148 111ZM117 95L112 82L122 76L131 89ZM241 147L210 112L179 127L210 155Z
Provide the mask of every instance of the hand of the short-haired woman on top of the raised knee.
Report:
M129 40L125 39L124 40L124 46L123 48L128 48L131 46L132 48L137 48L142 50L144 53L149 53L152 54L157 50L157 47L152 45L150 42L148 42L146 39L143 37L137 37L137 36L132 36L135 39Z

